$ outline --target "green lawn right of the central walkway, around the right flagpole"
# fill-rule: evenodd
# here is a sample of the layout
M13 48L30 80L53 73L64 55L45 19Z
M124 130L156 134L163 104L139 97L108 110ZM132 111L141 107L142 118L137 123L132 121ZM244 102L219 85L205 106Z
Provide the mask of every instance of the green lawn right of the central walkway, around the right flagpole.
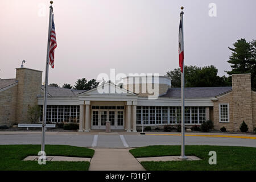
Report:
M135 158L180 155L180 146L147 146L130 150ZM217 164L210 165L209 151L216 151ZM233 146L185 146L185 155L195 155L202 160L172 162L142 162L149 171L180 170L256 170L256 148Z

